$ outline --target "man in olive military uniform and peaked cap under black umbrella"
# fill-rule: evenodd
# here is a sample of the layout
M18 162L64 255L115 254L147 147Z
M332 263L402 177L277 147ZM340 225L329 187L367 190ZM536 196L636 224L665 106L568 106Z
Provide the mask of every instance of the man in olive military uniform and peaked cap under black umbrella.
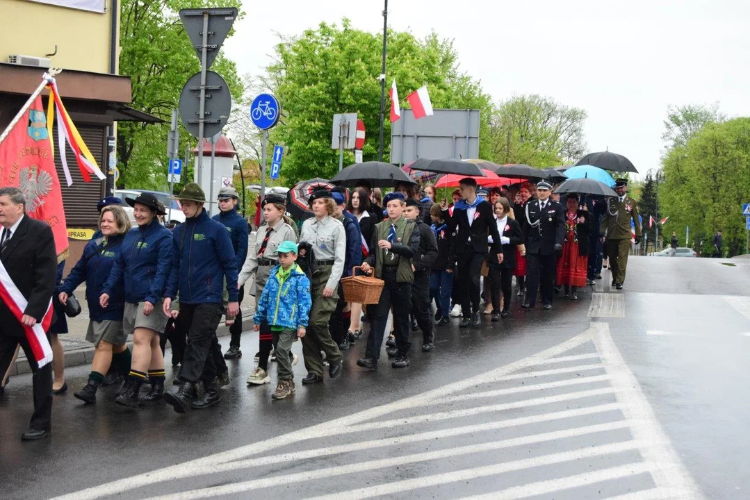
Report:
M612 270L612 286L622 290L625 283L625 270L630 254L630 220L635 226L635 244L640 243L640 220L638 204L628 196L628 180L617 179L614 185L616 198L607 199L607 208L601 217L601 234L606 238L607 257Z

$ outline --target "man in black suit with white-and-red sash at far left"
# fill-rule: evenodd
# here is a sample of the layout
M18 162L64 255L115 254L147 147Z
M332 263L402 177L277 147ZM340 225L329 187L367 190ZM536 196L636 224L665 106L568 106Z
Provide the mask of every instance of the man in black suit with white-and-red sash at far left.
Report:
M24 326L40 323L55 291L57 256L52 229L25 214L26 199L16 187L0 188L0 260L13 284L28 301L20 321L0 300L0 373L10 366L20 344L34 372L34 414L21 439L49 436L52 416L52 364L38 367ZM23 325L22 325L23 323ZM47 335L49 336L48 332Z

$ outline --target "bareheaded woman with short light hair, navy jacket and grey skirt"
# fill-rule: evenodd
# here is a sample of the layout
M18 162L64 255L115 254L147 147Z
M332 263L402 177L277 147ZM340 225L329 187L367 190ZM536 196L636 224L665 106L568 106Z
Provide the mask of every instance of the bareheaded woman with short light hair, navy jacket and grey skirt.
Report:
M86 302L89 304L89 331L86 340L94 343L94 359L89 383L74 394L84 403L96 403L96 393L104 382L104 377L115 364L122 376L130 371L130 351L125 345L127 335L122 331L122 313L125 306L122 289L110 296L110 304L104 309L99 304L99 296L104 283L110 277L110 271L120 256L124 235L130 229L127 214L119 206L108 206L102 209L99 216L99 228L102 236L86 244L83 255L71 270L71 274L62 284L59 298L62 304L84 281L86 281Z

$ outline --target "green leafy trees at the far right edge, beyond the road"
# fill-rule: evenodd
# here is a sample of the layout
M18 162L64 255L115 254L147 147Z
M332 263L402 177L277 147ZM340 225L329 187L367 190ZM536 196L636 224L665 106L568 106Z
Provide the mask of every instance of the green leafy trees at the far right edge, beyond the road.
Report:
M664 184L659 188L661 213L670 219L665 231L678 235L690 228L691 246L723 229L729 256L747 252L743 202L750 184L750 118L703 126L685 146L676 146L662 160Z

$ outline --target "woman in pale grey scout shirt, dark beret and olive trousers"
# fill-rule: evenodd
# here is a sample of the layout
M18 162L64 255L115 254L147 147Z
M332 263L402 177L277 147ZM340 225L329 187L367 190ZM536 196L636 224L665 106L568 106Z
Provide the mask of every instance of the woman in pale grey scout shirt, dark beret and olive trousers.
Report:
M336 209L331 192L326 189L314 190L310 196L310 206L315 217L302 223L299 238L311 245L316 264L312 280L313 306L310 323L307 334L302 338L302 353L305 356L305 368L308 369L308 376L302 379L304 385L323 382L321 351L326 353L326 361L329 362L329 376L335 379L341 373L343 357L331 338L329 322L338 303L338 282L344 273L347 256L344 224L331 217Z

